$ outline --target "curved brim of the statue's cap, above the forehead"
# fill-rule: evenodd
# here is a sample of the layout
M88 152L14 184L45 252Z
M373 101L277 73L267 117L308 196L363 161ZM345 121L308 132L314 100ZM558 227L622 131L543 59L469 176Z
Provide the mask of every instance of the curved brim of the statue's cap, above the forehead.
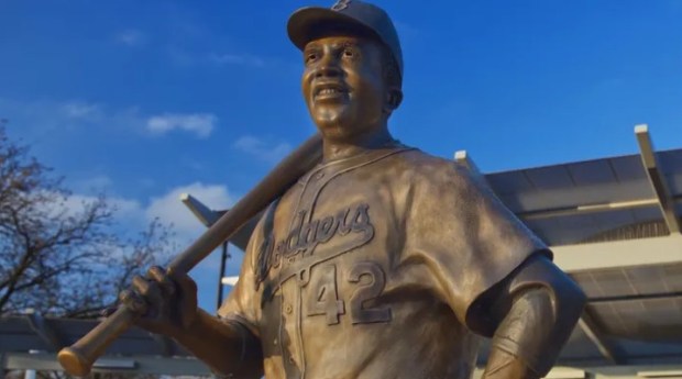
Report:
M289 18L287 22L289 40L302 51L312 40L312 31L318 24L355 26L374 34L371 27L341 12L329 8L307 7L297 10Z

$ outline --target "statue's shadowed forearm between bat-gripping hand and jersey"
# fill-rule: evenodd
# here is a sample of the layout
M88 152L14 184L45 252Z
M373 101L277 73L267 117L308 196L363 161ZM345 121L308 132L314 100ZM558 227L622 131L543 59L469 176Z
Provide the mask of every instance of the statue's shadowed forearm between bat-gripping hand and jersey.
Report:
M261 378L263 375L260 342L237 322L226 322L199 310L196 321L173 337L220 376Z

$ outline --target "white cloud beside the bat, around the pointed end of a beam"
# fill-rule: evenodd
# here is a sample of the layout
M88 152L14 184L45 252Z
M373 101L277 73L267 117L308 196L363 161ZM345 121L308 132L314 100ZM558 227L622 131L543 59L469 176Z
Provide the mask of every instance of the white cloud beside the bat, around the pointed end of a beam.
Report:
M183 193L191 194L212 210L224 210L232 204L232 197L226 186L201 182L177 187L158 198L152 198L144 211L146 219L158 218L163 223L172 223L173 230L182 238L196 238L206 230L180 201Z

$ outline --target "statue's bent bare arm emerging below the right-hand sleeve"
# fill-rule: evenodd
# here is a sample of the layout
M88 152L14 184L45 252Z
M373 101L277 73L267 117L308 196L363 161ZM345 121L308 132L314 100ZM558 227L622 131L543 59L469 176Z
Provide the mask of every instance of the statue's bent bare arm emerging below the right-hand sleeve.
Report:
M498 288L499 321L484 378L541 378L554 364L585 304L575 282L547 257L531 256Z

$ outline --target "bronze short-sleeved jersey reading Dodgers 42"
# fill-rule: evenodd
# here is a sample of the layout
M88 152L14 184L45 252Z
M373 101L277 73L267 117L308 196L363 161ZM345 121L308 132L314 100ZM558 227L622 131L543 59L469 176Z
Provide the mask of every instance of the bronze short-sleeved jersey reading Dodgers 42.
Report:
M396 145L317 166L256 226L219 315L265 377L469 378L470 306L546 250L465 168Z

